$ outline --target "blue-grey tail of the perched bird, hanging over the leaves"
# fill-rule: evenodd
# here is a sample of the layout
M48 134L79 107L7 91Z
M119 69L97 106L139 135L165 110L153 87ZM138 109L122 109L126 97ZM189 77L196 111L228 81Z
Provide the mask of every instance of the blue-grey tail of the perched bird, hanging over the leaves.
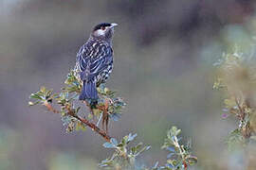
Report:
M98 92L96 89L96 83L94 81L83 81L82 92L80 93L79 99L98 99Z

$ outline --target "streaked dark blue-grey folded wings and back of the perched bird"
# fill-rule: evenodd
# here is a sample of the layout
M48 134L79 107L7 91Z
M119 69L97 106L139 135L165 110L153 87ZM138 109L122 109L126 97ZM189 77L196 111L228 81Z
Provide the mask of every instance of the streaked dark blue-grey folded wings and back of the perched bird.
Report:
M107 69L113 62L113 51L109 45L100 44L93 49L83 49L78 54L78 61L81 68L81 79L90 80Z

